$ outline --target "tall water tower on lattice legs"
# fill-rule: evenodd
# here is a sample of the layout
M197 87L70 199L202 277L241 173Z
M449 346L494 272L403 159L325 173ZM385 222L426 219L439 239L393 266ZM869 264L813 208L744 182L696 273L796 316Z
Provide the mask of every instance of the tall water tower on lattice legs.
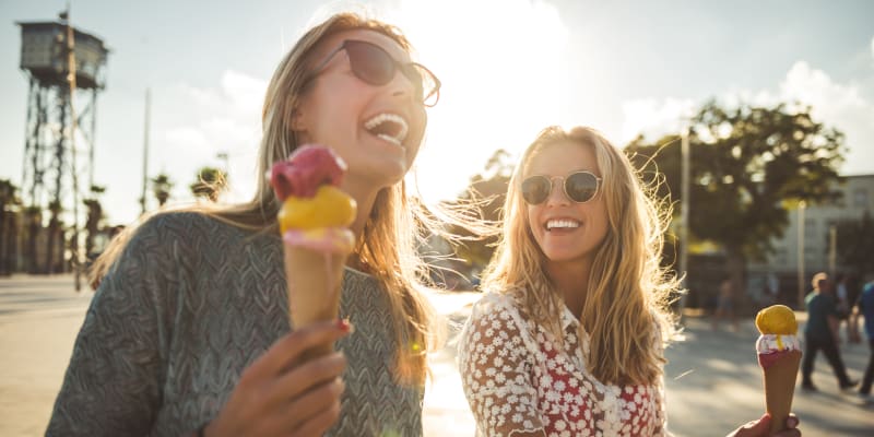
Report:
M29 82L22 200L32 214L43 209L50 212L46 237L31 238L32 247L25 250L32 265L42 264L36 258L45 259L44 268L29 270L49 273L64 267L59 217L63 210L73 213L71 249L79 260L78 203L94 182L97 93L105 86L109 51L101 38L73 28L67 12L59 17L58 22L16 23L21 26L20 68ZM46 244L45 258L37 256L37 239Z

